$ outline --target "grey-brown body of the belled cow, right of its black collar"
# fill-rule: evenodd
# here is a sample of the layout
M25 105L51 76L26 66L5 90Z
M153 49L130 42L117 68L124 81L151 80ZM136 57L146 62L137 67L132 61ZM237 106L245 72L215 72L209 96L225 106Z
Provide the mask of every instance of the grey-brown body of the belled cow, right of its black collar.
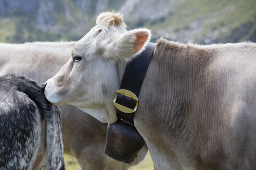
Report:
M158 41L134 119L156 167L256 167L255 65L253 43Z

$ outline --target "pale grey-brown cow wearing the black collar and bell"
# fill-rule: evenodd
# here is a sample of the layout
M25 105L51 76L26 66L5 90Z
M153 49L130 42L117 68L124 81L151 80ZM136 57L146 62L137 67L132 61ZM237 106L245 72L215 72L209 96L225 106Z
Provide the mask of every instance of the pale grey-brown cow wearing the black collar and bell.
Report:
M151 36L125 27L120 13L100 13L47 80L46 98L115 123L112 101L125 66ZM255 169L255 66L255 43L157 41L133 118L156 169Z

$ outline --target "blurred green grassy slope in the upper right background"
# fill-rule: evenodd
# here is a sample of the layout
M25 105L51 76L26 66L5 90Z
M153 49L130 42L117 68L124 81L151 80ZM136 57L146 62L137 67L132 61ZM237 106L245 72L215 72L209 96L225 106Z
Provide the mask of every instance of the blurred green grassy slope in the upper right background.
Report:
M181 37L180 34L184 32L203 29L193 37L199 43L203 43L204 38L214 32L218 33L217 36L209 37L213 42L236 43L245 39L256 41L255 7L254 0L184 0L171 7L173 11L163 22L146 22L146 27L162 29ZM190 26L193 22L198 25L195 30Z

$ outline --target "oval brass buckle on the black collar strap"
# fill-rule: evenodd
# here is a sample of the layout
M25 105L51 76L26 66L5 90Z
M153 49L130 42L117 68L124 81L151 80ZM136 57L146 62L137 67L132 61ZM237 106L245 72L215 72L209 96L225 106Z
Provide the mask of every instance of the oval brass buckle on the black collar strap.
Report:
M130 99L135 100L136 101L136 105L135 105L134 109L130 109L128 107L125 107L123 105L120 105L120 104L116 103L118 93L122 94L122 95L125 95L126 97L130 97ZM126 114L131 114L132 112L137 110L137 107L138 107L138 97L133 92L131 92L129 90L119 89L119 90L116 91L116 95L114 95L113 104L114 104L114 106L116 106L116 108L118 110L120 110L120 111L122 111L122 112L124 112Z

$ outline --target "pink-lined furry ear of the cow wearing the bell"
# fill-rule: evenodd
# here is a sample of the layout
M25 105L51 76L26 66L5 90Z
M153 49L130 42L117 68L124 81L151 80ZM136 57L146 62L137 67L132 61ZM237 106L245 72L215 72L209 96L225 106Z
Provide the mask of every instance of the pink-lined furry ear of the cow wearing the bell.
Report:
M124 60L136 56L145 49L150 40L148 29L136 29L123 33L117 43L118 57Z

